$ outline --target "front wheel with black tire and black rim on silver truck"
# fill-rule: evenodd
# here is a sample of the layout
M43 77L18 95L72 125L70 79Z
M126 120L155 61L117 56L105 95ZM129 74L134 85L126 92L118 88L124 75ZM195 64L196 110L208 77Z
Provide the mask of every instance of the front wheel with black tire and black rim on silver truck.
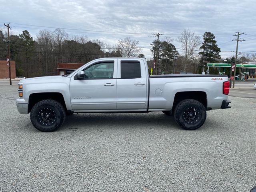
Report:
M42 100L36 103L31 112L30 120L33 126L42 132L57 130L65 121L66 112L63 106L55 100Z

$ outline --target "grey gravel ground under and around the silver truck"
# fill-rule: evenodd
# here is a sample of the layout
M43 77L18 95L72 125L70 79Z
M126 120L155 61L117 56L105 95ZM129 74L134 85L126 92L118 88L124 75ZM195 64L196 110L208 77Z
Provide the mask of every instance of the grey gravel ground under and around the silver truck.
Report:
M0 191L247 192L256 185L256 99L229 97L187 131L162 112L74 114L44 133L0 82Z

